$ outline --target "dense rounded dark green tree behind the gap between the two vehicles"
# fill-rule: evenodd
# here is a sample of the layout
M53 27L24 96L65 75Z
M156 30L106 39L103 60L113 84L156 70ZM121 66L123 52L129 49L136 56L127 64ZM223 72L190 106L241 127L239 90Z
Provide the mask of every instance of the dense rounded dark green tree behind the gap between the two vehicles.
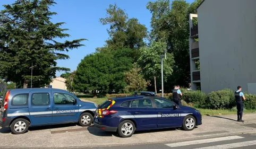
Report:
M80 92L97 91L106 93L113 81L114 60L111 55L102 53L90 54L81 60L74 77L74 89Z

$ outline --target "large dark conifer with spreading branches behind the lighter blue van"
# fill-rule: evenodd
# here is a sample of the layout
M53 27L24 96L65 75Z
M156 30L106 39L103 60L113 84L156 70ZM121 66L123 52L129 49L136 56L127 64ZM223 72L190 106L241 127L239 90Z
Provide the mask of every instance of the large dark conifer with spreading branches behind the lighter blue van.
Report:
M83 46L78 39L59 42L56 39L70 35L62 29L64 22L52 23L50 11L53 0L19 0L4 5L0 12L0 76L26 88L30 82L33 65L33 87L49 84L56 71L70 71L57 67L56 60L68 59L61 52Z

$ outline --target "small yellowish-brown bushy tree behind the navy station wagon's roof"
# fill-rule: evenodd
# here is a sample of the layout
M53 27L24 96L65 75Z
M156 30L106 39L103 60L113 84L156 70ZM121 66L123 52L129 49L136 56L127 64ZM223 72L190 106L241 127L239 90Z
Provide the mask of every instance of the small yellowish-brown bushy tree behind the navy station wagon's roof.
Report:
M142 74L140 74L141 69L136 66L125 73L125 82L127 86L125 86L126 92L133 91L144 91L149 84L149 81L146 81Z

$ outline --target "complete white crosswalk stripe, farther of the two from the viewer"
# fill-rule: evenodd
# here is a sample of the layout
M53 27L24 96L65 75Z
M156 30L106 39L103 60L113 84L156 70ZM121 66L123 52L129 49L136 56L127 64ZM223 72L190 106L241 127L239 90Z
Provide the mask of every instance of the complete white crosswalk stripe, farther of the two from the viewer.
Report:
M165 145L167 145L169 147L179 147L179 146L186 146L186 145L195 145L195 144L211 143L211 142L218 142L218 141L227 141L227 140L232 140L232 139L241 139L241 138L244 138L244 137L228 136L228 137L219 137L219 138L210 138L210 139L200 139L200 140L195 140L195 141L170 143L170 144L165 144Z

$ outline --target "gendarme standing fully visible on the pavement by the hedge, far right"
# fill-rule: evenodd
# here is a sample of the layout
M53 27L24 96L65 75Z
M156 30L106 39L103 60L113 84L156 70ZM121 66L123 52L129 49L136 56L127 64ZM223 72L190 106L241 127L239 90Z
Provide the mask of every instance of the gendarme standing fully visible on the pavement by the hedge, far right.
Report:
M236 109L237 109L237 121L244 122L242 120L243 110L244 110L244 93L241 91L242 87L237 86L237 91L235 91Z

